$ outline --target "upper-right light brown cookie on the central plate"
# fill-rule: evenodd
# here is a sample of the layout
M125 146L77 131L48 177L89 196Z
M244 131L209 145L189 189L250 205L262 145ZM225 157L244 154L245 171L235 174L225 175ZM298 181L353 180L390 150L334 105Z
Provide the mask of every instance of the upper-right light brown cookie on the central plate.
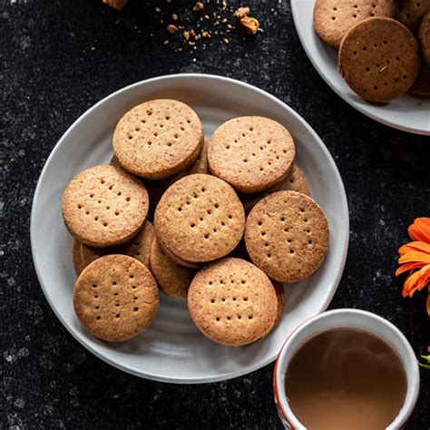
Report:
M224 122L211 136L210 171L248 194L283 181L293 167L293 138L279 122L242 116Z

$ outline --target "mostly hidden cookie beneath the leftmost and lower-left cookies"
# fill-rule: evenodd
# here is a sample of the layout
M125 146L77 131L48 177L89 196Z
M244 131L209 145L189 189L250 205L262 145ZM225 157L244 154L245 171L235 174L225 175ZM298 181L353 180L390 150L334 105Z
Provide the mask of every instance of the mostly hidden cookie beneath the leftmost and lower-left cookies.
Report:
M139 234L132 241L113 248L93 248L81 244L81 260L83 268L86 268L94 260L105 255L123 254L138 259L150 269L150 257L152 241L155 239L155 229L151 221L146 221Z

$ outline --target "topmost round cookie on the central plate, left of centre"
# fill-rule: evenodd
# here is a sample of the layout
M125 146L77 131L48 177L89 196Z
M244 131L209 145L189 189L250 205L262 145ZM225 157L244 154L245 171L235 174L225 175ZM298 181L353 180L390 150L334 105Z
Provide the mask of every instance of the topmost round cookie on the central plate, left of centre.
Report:
M203 144L196 112L176 100L151 100L122 116L113 132L113 151L124 169L151 180L189 167Z

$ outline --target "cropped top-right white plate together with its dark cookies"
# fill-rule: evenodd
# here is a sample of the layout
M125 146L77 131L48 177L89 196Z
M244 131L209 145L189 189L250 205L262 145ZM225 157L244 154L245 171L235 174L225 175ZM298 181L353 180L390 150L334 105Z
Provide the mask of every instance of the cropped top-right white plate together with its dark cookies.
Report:
M347 103L430 135L430 0L291 0L303 48Z

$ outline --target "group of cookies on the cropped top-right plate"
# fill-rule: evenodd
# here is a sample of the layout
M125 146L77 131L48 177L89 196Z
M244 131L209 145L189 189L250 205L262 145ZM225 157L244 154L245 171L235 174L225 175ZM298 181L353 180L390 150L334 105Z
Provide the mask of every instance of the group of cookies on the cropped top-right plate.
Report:
M430 96L430 0L317 0L314 28L367 101Z

